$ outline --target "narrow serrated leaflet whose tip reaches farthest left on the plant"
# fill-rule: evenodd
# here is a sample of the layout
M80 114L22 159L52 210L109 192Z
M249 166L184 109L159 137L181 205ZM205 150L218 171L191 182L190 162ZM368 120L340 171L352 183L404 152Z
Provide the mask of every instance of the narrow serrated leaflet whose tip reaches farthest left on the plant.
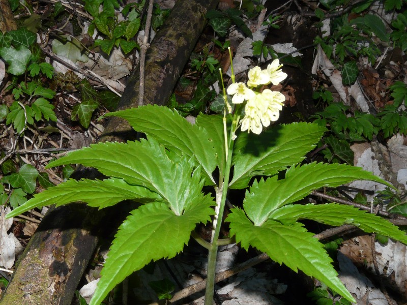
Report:
M162 198L157 193L153 193L142 186L129 185L123 179L82 179L79 181L69 179L56 187L35 194L34 198L13 210L10 217L19 215L35 207L50 204L60 206L75 201L82 201L88 203L89 206L99 207L99 209L101 209L126 199L141 203L162 201Z

